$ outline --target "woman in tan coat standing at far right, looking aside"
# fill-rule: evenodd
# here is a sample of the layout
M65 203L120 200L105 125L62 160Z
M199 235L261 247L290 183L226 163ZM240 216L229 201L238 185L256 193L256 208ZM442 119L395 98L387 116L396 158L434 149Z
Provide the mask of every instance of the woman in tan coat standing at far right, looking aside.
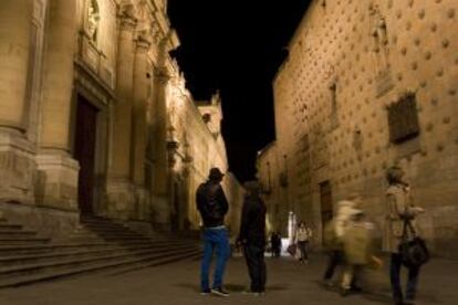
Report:
M424 209L414 207L410 198L410 190L403 180L404 171L400 167L391 167L387 170L386 179L388 189L386 191L386 214L385 230L383 234L383 250L391 253L389 277L393 290L393 298L396 305L414 304L418 283L419 265L408 265L407 291L404 297L400 287L400 267L403 265L403 253L399 246L407 236L406 224L412 228L415 234L413 220Z

